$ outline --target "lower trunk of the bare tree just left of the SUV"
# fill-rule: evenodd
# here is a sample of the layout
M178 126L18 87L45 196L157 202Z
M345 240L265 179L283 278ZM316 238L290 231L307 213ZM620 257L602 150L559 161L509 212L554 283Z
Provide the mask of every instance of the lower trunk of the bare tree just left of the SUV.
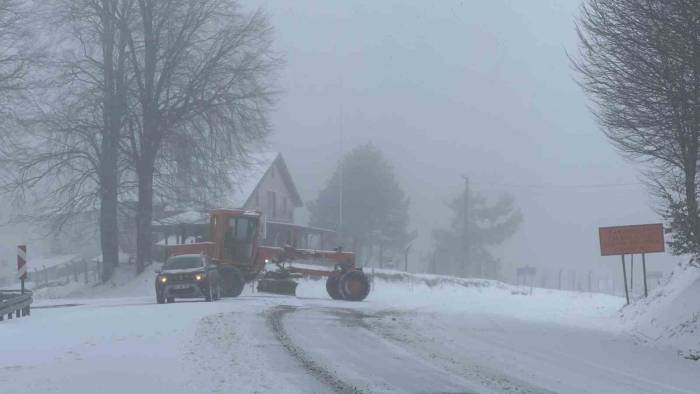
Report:
M153 162L147 158L138 166L138 193L136 204L136 271L143 272L151 262L153 221Z

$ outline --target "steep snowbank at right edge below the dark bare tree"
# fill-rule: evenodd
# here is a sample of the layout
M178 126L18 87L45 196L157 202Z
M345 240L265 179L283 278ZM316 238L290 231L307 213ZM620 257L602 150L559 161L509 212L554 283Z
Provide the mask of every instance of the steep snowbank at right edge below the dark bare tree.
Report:
M700 356L700 268L679 264L649 298L623 308L622 319L644 342L666 344L684 356Z

